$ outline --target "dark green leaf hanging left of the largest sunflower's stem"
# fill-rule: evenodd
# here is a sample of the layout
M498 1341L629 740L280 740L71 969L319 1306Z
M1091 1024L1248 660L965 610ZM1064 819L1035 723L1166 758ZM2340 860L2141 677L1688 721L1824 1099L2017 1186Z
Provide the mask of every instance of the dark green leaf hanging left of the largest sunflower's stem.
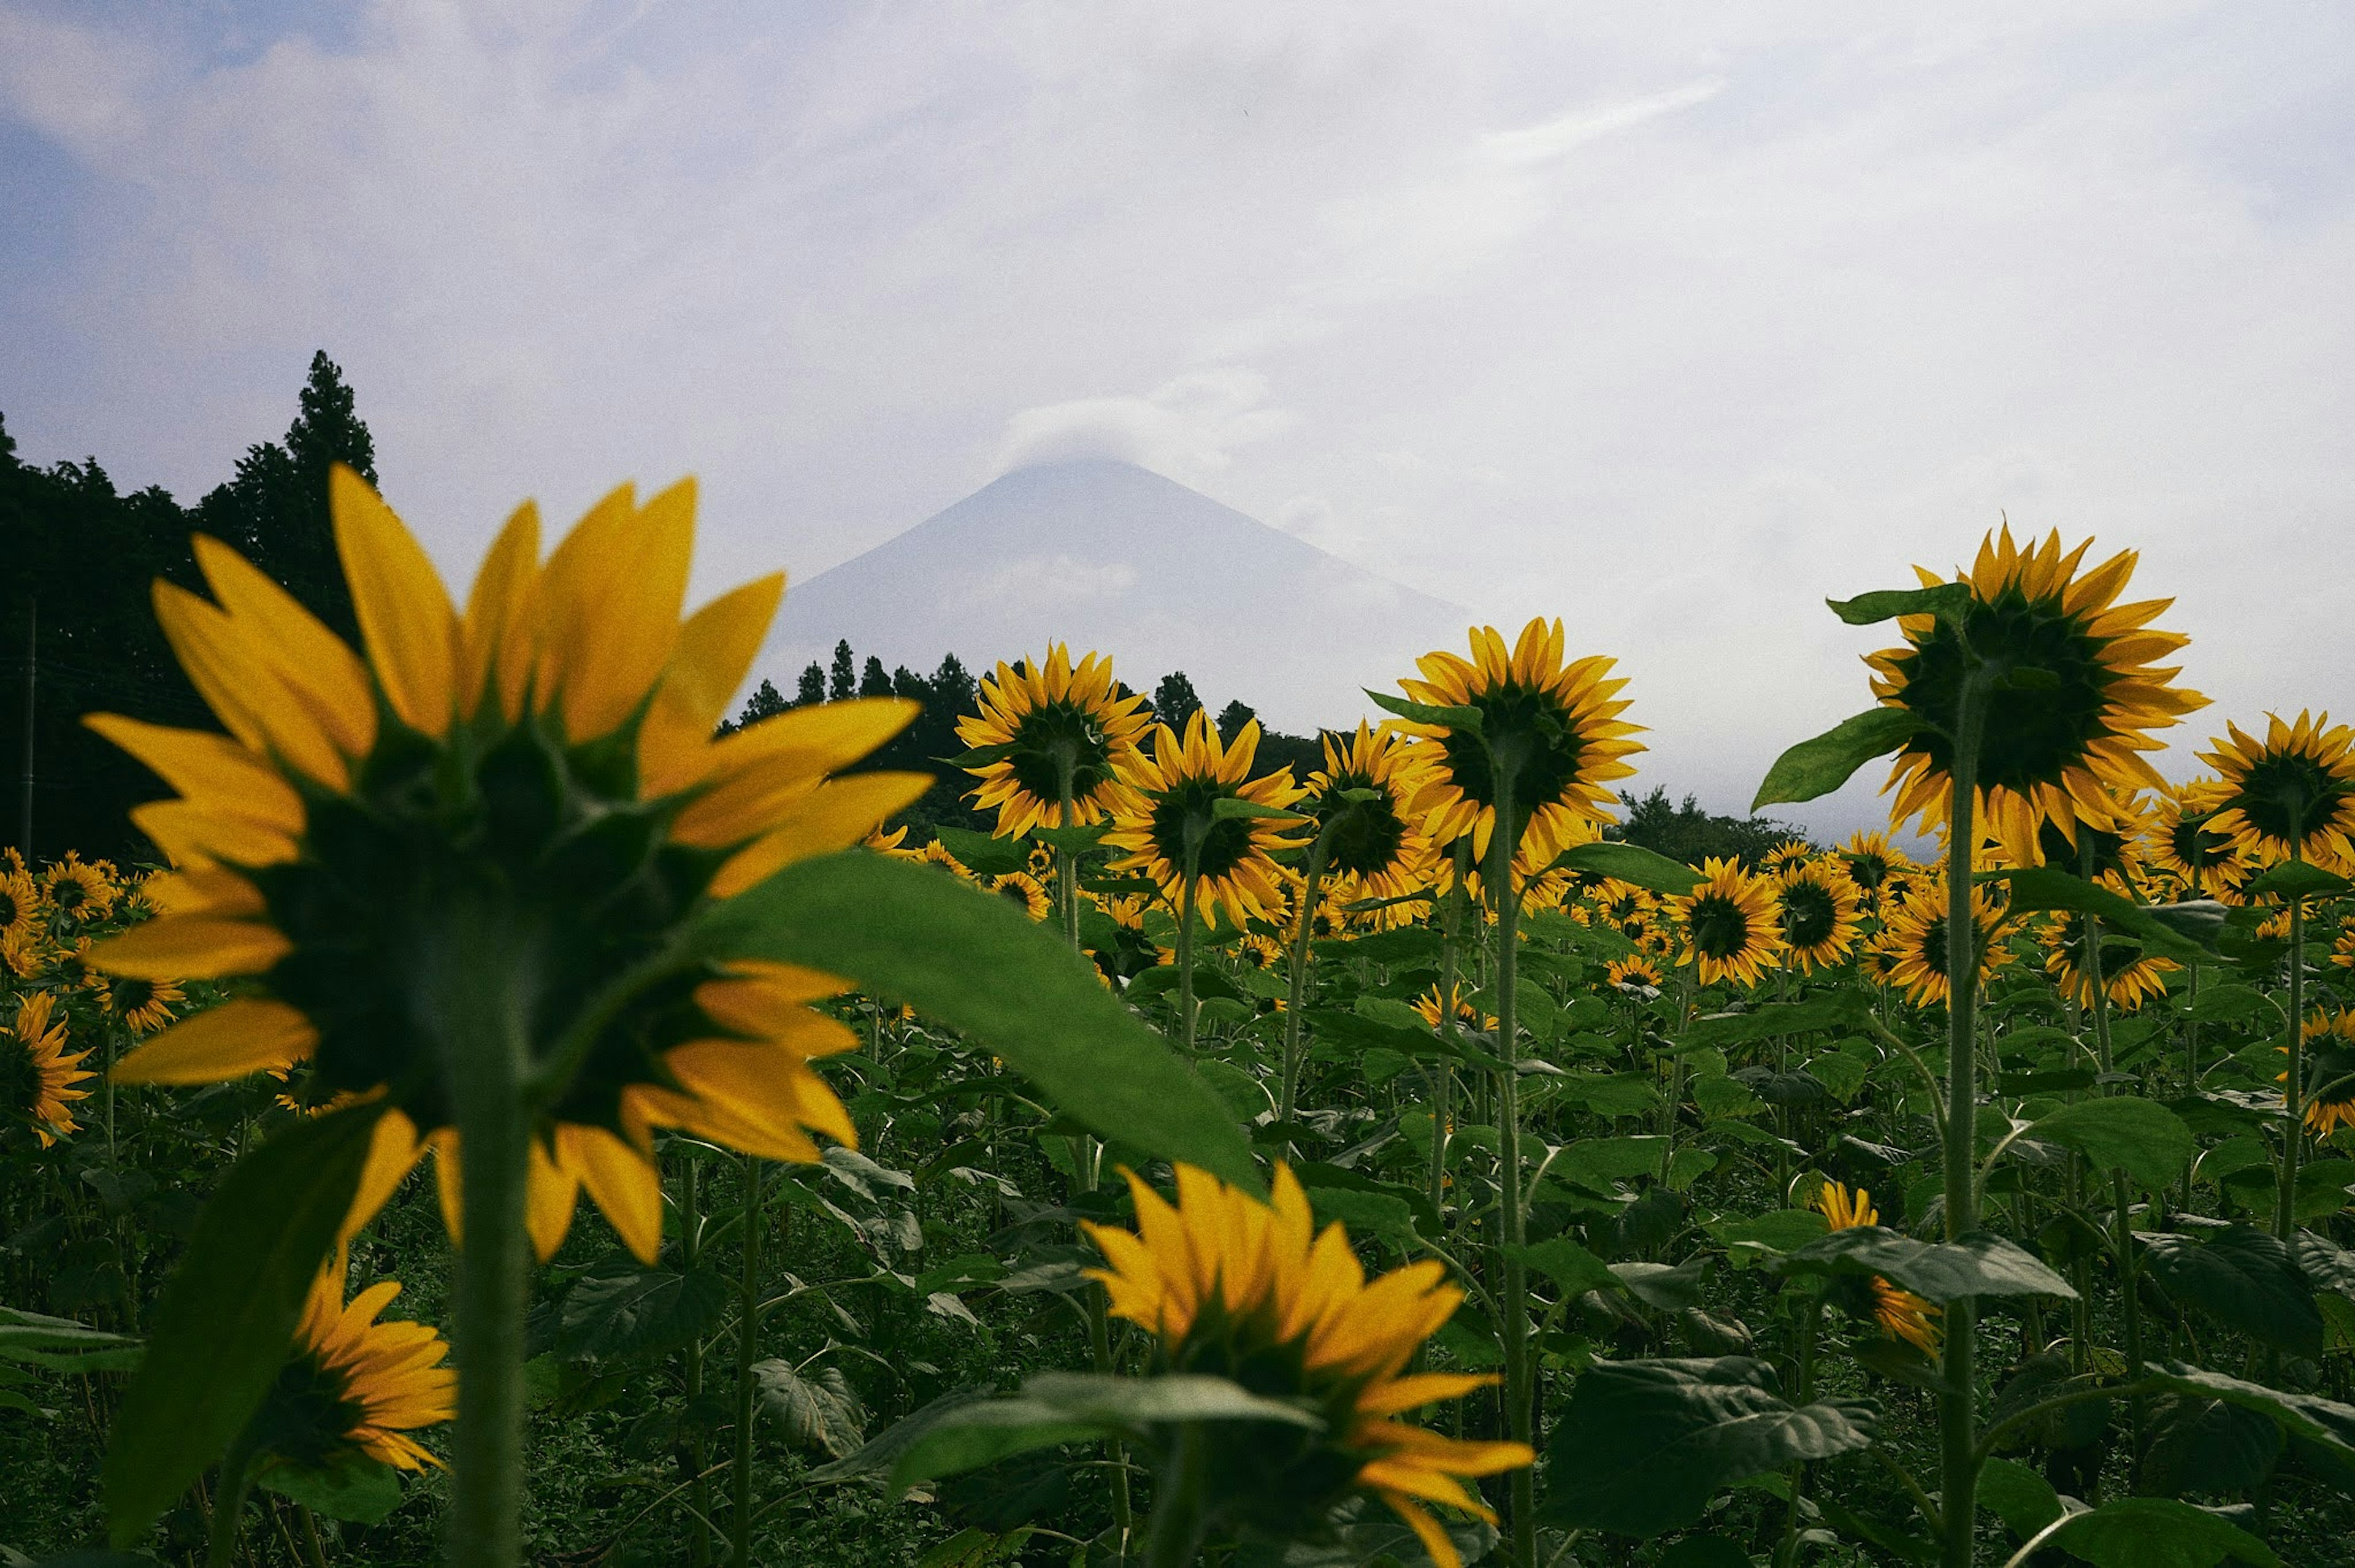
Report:
M238 1161L205 1203L106 1446L115 1547L146 1535L278 1382L382 1114L377 1102L287 1128Z

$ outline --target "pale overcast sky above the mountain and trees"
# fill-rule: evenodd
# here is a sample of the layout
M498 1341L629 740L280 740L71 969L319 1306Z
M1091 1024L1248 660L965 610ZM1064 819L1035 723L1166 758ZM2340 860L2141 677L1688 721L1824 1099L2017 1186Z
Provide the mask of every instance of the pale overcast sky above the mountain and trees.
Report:
M523 494L697 473L709 593L1128 457L1561 614L1722 810L1868 704L1823 596L1999 513L2143 551L2193 739L2355 718L2334 0L0 0L24 457L195 499L318 346L462 579Z

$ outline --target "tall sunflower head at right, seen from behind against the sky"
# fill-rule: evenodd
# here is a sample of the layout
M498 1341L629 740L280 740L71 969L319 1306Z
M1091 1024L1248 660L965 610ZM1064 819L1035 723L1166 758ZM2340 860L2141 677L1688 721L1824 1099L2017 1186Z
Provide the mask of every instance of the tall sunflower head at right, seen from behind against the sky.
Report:
M1908 614L1898 622L1905 647L1865 659L1875 671L1872 695L1924 720L1884 786L1884 793L1896 791L1891 822L1919 817L1929 831L1948 817L1950 737L1971 659L1995 673L1983 706L1973 812L2014 864L2039 864L2039 824L2056 822L2075 845L2079 822L2110 826L2110 789L2164 789L2143 760L2160 749L2148 730L2181 723L2207 697L2169 685L2174 669L2152 666L2188 640L2150 629L2174 600L2120 605L2134 551L2079 577L2077 563L2089 546L2091 539L2063 553L2056 532L2021 551L2009 527L1990 534L1973 567L1957 574L1971 589L1962 626ZM1941 584L1926 567L1915 572L1924 586Z

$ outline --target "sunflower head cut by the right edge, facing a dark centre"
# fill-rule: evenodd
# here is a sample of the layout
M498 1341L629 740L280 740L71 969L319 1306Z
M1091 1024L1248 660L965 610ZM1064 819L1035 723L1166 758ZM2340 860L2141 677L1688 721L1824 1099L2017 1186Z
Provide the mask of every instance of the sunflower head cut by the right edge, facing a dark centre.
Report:
M2221 779L2204 800L2207 822L2254 862L2310 859L2346 866L2355 859L2355 730L2329 713L2301 711L2296 723L2266 713L2266 739L2225 725L2225 737L2202 751Z

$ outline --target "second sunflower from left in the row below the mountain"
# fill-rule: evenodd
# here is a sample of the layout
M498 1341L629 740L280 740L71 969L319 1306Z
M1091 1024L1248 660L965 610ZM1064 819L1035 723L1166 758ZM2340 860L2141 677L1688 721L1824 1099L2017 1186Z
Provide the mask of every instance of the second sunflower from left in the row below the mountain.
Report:
M1302 845L1283 836L1300 819L1215 815L1220 800L1286 810L1302 796L1291 768L1251 777L1258 749L1258 718L1234 742L1220 742L1201 709L1185 720L1185 739L1154 725L1154 753L1133 751L1121 763L1119 808L1104 833L1104 848L1119 852L1112 869L1152 878L1173 909L1192 906L1203 925L1215 925L1220 909L1234 925L1281 921L1283 878L1269 855Z

